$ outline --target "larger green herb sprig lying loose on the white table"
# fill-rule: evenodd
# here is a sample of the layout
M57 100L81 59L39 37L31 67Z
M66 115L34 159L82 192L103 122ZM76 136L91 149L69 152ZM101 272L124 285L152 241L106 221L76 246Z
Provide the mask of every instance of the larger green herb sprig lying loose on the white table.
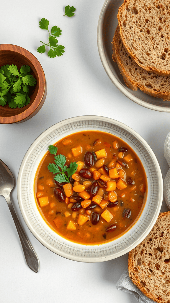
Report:
M45 53L46 51L46 46L50 47L50 50L48 51L47 55L50 58L55 58L56 56L60 57L64 53L64 46L63 45L58 45L58 40L56 37L60 37L61 35L61 29L58 26L53 26L51 28L51 33L48 29L49 26L49 21L45 18L42 18L41 21L39 22L40 28L45 29L48 31L48 43L43 43L43 45L39 46L37 48L37 52L40 54Z

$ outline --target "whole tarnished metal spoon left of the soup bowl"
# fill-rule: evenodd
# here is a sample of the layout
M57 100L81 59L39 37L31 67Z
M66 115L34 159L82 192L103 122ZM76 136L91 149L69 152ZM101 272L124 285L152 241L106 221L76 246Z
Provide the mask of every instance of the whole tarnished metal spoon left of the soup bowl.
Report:
M38 257L34 249L32 248L27 236L25 235L23 228L21 227L21 224L17 218L17 215L10 200L10 193L14 187L14 184L14 177L11 171L9 170L8 166L0 159L0 195L4 196L8 203L12 218L18 231L26 262L29 268L31 268L34 272L38 272Z

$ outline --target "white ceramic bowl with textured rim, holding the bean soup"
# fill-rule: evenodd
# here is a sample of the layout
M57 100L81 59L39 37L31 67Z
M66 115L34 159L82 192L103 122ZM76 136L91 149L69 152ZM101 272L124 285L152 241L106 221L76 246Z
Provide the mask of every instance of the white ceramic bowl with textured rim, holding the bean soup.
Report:
M50 144L83 130L110 132L129 144L141 159L148 180L145 208L136 224L120 238L101 245L82 245L55 233L41 217L34 199L34 177ZM152 229L163 197L162 174L158 161L144 139L128 126L99 116L81 116L61 121L43 132L30 146L21 163L17 195L22 216L32 234L45 247L65 258L82 262L100 262L117 258L136 247Z

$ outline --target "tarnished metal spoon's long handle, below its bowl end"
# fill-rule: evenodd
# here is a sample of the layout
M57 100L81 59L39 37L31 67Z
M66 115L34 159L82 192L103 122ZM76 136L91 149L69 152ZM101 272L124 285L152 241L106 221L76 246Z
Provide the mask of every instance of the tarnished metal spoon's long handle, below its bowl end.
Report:
M23 230L23 228L22 228L22 226L21 226L21 224L18 220L18 217L15 213L14 207L11 203L10 196L5 197L5 199L8 203L9 210L11 211L12 218L13 218L15 226L17 228L18 235L19 235L19 238L20 238L20 241L21 241L21 245L22 245L22 248L23 248L23 251L24 251L26 262L27 262L29 268L31 268L34 272L38 272L38 269L39 269L38 257L36 255L34 249L32 248L32 246L31 246L27 236L25 235L25 232L24 232L24 230Z

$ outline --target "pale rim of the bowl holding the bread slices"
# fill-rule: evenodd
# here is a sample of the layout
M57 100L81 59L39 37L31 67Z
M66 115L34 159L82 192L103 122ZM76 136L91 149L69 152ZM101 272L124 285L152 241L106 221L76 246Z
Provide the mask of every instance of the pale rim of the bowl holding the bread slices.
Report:
M163 106L152 105L152 104L149 104L149 103L147 103L145 101L142 101L141 99L135 97L130 92L128 92L126 90L126 88L124 88L119 83L119 81L116 79L116 77L113 75L113 72L111 71L110 66L107 62L107 58L106 58L106 55L105 55L105 49L104 49L104 46L103 46L103 20L104 20L104 16L106 14L107 8L110 5L110 2L112 2L112 1L113 0L106 0L104 2L102 10L100 12L98 26L97 26L97 46L98 46L98 51L99 51L99 55L100 55L100 60L103 64L103 67L105 69L106 74L109 76L109 78L113 82L113 84L119 89L119 91L121 91L127 98L129 98L133 102L135 102L139 105L142 105L143 107L155 110L155 111L170 112L170 107L165 108Z

